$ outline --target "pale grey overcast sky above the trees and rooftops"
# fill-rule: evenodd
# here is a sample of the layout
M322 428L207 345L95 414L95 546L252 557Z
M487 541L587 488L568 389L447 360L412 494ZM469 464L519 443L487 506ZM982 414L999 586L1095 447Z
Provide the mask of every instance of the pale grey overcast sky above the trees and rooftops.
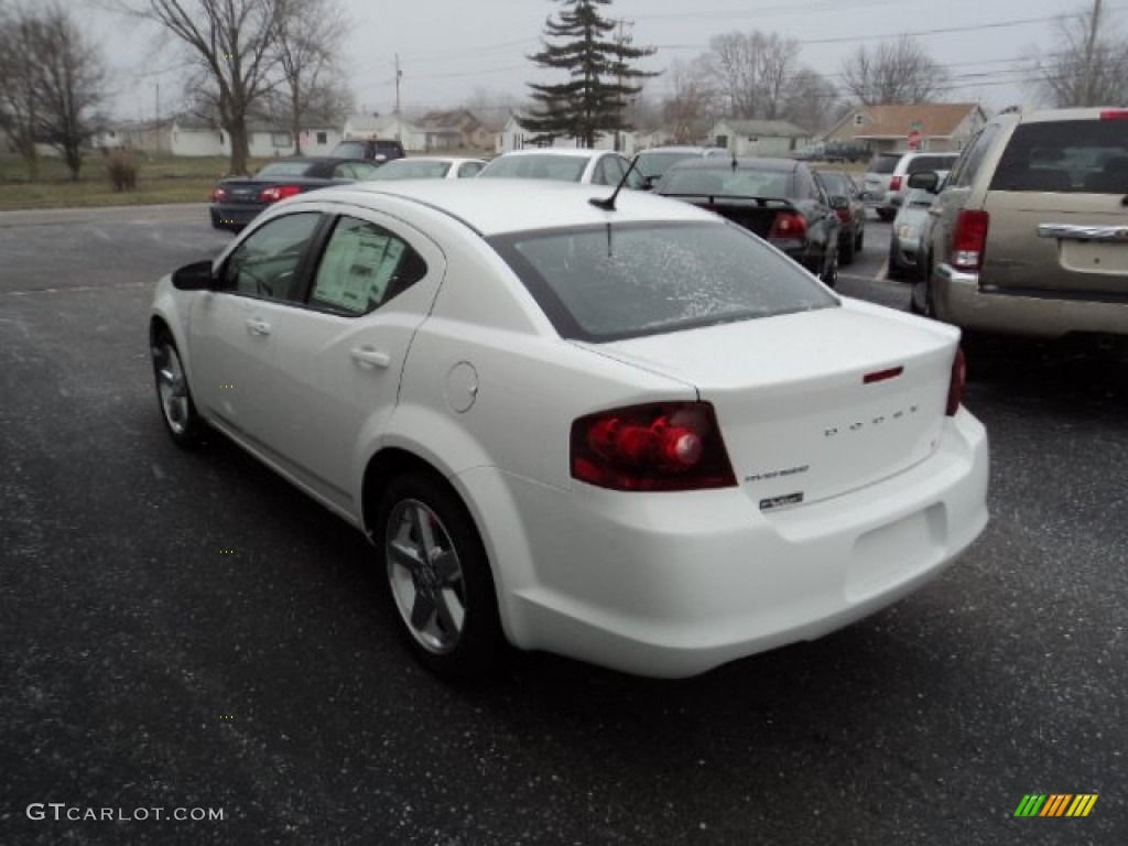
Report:
M71 0L103 42L115 69L120 117L151 118L160 86L161 112L177 104L175 50L153 30L106 12L92 0ZM341 0L352 20L346 45L359 107L387 113L395 105L395 58L403 71L407 112L455 107L475 94L525 97L525 82L544 79L526 59L539 46L552 0ZM616 0L608 17L627 23L640 46L658 52L649 70L689 61L722 33L775 32L802 44L802 61L837 81L843 60L858 45L900 33L916 35L954 85L949 100L1002 108L1028 99L1017 83L1032 49L1050 50L1054 18L1090 8L1092 0ZM1104 0L1105 23L1125 32L1128 0ZM659 77L653 98L669 90Z

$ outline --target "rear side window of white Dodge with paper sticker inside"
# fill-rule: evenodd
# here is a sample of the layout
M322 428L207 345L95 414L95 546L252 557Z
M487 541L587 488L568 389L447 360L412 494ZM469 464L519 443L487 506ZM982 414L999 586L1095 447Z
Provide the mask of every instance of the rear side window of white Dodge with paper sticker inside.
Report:
M402 238L367 220L341 218L317 267L310 306L364 315L425 275L426 264Z

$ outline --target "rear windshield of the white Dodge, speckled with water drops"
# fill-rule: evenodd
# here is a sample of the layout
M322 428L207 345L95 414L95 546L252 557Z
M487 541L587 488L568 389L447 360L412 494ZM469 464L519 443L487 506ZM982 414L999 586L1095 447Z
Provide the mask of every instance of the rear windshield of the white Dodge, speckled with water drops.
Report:
M566 338L616 341L838 303L797 264L723 221L608 223L490 243Z

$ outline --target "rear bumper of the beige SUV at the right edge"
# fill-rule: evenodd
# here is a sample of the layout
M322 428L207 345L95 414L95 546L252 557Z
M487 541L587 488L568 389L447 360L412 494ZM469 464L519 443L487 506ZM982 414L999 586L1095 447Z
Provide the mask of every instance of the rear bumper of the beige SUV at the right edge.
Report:
M1069 333L1128 335L1128 303L982 291L979 274L948 264L936 265L932 289L936 316L964 329L1046 338Z

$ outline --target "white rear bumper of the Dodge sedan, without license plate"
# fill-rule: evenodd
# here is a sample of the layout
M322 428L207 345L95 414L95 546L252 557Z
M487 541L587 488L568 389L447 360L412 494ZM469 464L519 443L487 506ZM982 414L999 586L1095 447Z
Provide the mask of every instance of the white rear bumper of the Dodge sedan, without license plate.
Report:
M506 632L523 649L667 678L812 640L951 564L987 522L987 475L986 432L961 411L927 460L778 511L760 511L747 486L670 495L509 479L526 537L488 541ZM506 553L520 549L530 561L511 580Z

